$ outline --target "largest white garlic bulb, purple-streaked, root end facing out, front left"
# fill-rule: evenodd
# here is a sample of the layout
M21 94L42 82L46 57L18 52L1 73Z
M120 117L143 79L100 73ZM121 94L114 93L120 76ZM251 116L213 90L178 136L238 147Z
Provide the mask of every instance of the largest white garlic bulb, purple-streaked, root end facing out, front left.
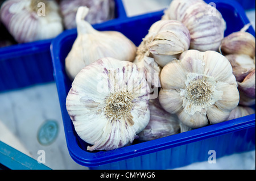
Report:
M101 58L72 83L66 106L88 150L112 150L133 142L150 120L149 87L132 62Z

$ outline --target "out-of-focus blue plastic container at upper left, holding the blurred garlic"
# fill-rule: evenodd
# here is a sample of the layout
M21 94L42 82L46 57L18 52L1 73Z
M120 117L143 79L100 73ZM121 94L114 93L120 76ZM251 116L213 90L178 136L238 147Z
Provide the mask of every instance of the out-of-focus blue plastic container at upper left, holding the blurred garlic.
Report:
M115 0L115 19L126 18L122 0ZM1 32L2 33L2 32ZM53 82L51 41L40 40L0 48L0 92Z

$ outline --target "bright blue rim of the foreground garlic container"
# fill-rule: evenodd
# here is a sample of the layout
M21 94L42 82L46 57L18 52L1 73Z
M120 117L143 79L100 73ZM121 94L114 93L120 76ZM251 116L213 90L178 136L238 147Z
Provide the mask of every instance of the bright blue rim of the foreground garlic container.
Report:
M216 1L205 1L205 2L214 2L216 4L230 6L232 7L232 9L234 9L234 11L239 12L237 14L238 16L240 16L240 19L244 24L250 23L242 6L237 2L230 1L230 0L216 0ZM143 18L146 16L154 15L154 14L163 14L163 10L157 11L157 12L151 12L149 14L131 16L126 19L121 19L118 22L113 20L113 21L110 21L109 23L119 24L120 21L121 22L130 21L133 19ZM101 26L104 26L104 25L98 24L94 26L94 28L96 27L99 28ZM248 31L251 34L253 34L253 36L255 37L255 31L253 30L252 27L250 27ZM62 116L63 116L65 137L67 141L69 154L74 159L74 161L76 161L80 165L89 166L89 167L100 166L107 163L122 161L124 159L138 157L144 154L161 151L168 148L174 148L176 146L189 144L190 142L204 140L209 137L226 134L226 133L237 131L240 129L255 127L255 113L254 113L253 115L240 117L238 119L224 121L222 123L209 125L207 127L193 129L192 131L189 131L189 132L174 134L168 137L163 137L163 138L159 138L152 141L142 142L139 144L134 144L134 145L130 145L127 147L114 149L110 151L98 151L94 153L94 152L83 150L82 148L80 148L79 144L77 143L77 138L74 133L75 131L73 128L73 124L67 113L65 102L62 102L65 100L68 92L65 92L64 77L57 72L57 70L61 69L60 65L55 64L55 61L59 61L60 59L59 49L53 50L53 47L59 46L61 41L65 37L74 35L74 33L76 33L76 30L69 30L57 36L51 43L51 56L52 56L52 61L54 66L56 85L57 87L59 87L59 90L57 91L59 94L61 110L63 110Z

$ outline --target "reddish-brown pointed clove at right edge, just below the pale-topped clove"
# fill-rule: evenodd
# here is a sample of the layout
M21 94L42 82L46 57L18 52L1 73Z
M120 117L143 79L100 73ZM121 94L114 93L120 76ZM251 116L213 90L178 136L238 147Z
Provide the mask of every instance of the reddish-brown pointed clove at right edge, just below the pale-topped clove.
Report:
M238 82L238 90L248 98L255 99L255 68L242 82Z

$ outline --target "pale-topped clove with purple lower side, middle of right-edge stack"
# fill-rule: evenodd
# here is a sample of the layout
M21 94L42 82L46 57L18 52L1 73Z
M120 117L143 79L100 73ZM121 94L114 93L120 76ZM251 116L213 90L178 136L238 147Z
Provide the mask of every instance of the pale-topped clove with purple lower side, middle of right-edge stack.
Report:
M228 54L228 58L233 68L233 74L237 82L242 82L243 79L255 69L254 60L247 54Z

